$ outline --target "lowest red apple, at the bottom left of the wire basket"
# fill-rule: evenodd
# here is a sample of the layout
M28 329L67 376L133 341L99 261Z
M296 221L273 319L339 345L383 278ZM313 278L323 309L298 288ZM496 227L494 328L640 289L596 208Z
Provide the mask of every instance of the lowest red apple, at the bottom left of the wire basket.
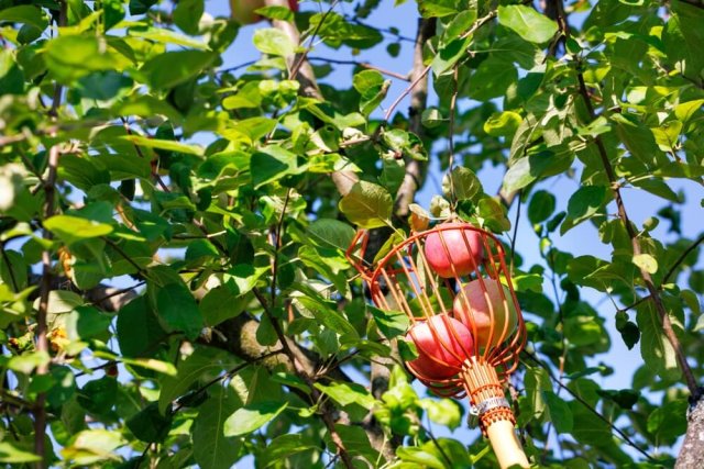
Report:
M462 367L468 355L474 354L472 334L460 321L438 314L414 324L406 334L418 350L418 358L408 365L427 379L451 378Z

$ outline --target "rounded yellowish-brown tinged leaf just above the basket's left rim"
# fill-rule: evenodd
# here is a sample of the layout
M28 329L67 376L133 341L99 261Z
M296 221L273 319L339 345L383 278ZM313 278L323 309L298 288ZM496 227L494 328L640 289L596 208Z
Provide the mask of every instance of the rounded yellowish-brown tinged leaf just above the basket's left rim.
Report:
M381 186L359 181L340 201L340 211L352 223L363 228L391 225L394 201Z

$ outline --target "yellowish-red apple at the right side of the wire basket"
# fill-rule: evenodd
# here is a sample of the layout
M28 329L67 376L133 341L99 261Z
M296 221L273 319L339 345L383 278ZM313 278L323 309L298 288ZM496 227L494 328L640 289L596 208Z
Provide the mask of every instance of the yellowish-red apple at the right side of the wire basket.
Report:
M496 346L516 331L518 313L510 290L506 286L492 279L483 279L483 281L486 292L482 289L480 279L472 280L464 286L464 295L458 293L454 298L452 311L454 317L474 334L480 347L485 347L487 344ZM503 290L503 297L499 289ZM490 344L492 323L494 331Z

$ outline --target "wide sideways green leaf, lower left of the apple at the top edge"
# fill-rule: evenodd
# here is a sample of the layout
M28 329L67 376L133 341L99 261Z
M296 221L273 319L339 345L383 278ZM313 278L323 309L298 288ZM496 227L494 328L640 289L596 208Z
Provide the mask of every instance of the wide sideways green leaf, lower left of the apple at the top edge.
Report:
M169 89L200 75L217 55L204 51L172 51L144 63L141 70L152 88Z

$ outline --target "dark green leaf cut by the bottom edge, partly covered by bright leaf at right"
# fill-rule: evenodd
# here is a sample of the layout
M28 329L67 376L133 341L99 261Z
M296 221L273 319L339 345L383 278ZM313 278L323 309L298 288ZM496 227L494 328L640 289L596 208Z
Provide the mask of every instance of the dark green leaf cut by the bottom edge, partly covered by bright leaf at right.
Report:
M204 469L229 469L238 460L240 438L226 437L224 422L242 405L232 388L217 387L198 409L194 423L194 458Z

